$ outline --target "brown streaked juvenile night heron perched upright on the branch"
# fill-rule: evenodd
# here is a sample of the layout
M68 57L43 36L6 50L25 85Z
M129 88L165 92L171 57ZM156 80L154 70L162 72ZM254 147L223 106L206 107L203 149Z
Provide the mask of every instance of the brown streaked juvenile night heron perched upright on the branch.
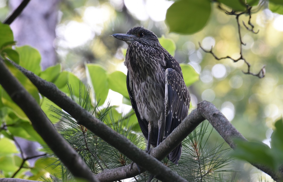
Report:
M134 27L112 36L128 44L127 89L149 151L150 145L156 147L187 116L190 94L179 63L153 32ZM181 152L182 144L168 158L178 164Z

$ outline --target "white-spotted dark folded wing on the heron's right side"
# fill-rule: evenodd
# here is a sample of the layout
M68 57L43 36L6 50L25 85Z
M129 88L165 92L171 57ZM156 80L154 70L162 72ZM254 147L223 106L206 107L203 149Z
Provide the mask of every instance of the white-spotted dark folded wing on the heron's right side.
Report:
M183 77L174 69L165 71L165 133L167 137L185 117L190 107L190 94Z

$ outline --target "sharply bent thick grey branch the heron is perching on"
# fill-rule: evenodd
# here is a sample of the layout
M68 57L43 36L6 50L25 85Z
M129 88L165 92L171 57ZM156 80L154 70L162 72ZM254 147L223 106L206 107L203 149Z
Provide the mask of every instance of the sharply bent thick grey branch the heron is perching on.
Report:
M222 138L230 145L232 149L236 148L233 139L238 138L247 141L243 135L228 121L228 119L218 110L212 103L202 101L198 104L197 109L194 109L182 123L156 148L153 148L151 155L159 160L162 160L168 155L172 148L175 148L179 143L186 138L186 136L195 129L195 127L203 120L207 119L211 125L218 131ZM249 161L248 161L249 162ZM271 168L250 162L256 168L269 174L275 181L282 180L281 175L275 173ZM129 165L111 170L104 170L97 174L98 179L106 179L107 181L114 181L123 179L123 177L133 177L138 174L137 171L130 171ZM114 178L113 176L117 177Z

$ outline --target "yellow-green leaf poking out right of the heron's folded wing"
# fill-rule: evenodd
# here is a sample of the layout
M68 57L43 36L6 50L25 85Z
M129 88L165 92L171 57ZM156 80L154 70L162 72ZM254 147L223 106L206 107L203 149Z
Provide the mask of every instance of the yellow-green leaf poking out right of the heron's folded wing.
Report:
M182 73L184 77L184 81L186 86L190 86L191 84L195 83L199 80L199 74L196 70L189 64L180 64L182 68Z

